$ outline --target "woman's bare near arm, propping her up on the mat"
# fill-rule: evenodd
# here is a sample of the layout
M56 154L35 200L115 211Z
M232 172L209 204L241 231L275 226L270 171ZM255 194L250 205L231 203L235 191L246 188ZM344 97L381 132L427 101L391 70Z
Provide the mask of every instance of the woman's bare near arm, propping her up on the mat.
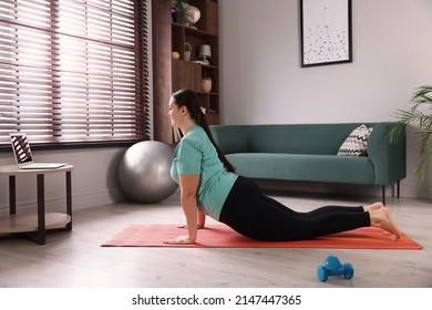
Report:
M196 204L196 193L199 184L199 175L179 175L181 204L186 217L187 236L178 236L175 239L164 241L172 245L189 245L196 240L198 220L198 208ZM204 223L200 223L204 224Z

